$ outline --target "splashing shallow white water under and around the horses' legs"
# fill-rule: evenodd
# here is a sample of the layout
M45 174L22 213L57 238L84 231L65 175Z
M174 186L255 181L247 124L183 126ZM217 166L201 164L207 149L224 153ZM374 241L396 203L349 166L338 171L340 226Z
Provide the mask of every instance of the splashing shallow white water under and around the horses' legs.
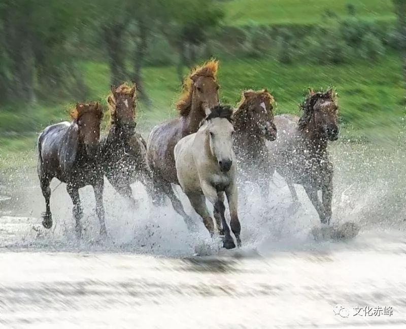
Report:
M293 211L276 177L267 208L245 187L239 250L221 249L201 223L189 233L169 206L152 209L138 184L138 211L107 184L103 241L92 190L83 189L78 242L64 185L53 181L55 223L46 230L34 169L13 173L2 190L12 199L0 201L0 327L405 327L406 152L358 144L332 151L333 222L360 225L358 236L314 241L315 210L298 187L302 205ZM348 318L334 315L336 304ZM354 316L361 307L393 312Z

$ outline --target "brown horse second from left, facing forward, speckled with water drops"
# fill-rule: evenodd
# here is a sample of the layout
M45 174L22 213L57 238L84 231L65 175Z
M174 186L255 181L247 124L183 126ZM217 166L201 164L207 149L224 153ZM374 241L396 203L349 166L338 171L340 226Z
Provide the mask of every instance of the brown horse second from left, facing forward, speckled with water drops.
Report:
M103 171L110 184L134 207L130 184L137 179L148 185L150 174L147 165L147 145L144 138L135 131L136 102L135 86L122 84L111 87L107 97L111 126L109 133L101 140Z

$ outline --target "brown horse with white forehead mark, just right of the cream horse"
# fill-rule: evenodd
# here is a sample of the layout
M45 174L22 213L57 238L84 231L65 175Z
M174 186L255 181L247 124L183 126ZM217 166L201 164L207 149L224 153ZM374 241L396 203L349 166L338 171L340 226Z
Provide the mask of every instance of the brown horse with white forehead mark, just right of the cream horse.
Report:
M269 193L269 181L265 177L273 173L269 168L270 156L265 143L277 136L273 103L274 98L266 89L247 90L233 114L239 185L242 186L245 181L255 182L265 200ZM245 199L244 193L241 195Z

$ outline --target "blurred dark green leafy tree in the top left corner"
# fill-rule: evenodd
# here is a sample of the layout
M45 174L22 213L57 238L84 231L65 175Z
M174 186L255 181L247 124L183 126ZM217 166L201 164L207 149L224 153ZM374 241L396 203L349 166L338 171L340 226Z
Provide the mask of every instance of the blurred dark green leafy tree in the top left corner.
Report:
M74 89L79 93L85 92L81 75L65 48L83 9L79 0L49 0L45 4L0 0L0 29L4 32L0 84L12 89L8 100L35 101L36 80L40 87L37 92L46 96L69 90L72 84L78 84Z

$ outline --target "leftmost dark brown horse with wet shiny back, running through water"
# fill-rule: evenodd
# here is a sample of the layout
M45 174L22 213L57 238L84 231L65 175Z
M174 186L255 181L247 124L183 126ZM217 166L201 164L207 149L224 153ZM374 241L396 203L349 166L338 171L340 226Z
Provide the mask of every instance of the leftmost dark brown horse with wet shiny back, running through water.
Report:
M46 203L42 222L45 228L52 227L49 185L52 178L56 177L66 183L67 193L72 199L78 238L82 234L79 188L86 185L93 186L96 212L100 221L100 235L106 235L103 171L99 154L102 117L103 112L99 103L79 103L71 112L71 123L61 122L48 126L38 138L38 175Z

